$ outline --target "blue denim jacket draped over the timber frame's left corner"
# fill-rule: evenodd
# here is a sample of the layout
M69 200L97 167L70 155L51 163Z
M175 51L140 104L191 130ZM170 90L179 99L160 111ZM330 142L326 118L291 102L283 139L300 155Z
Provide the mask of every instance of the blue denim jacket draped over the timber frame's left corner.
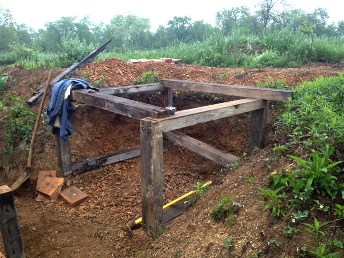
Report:
M76 109L69 101L69 97L65 100L64 94L67 87L73 83L71 90L78 88L90 88L96 91L99 89L90 86L83 80L80 79L64 79L54 85L52 100L47 108L48 123L52 127L53 134L58 136L62 143L68 142L69 135L72 135L73 128L69 123L69 119L74 115ZM54 127L57 115L60 115L60 127Z

